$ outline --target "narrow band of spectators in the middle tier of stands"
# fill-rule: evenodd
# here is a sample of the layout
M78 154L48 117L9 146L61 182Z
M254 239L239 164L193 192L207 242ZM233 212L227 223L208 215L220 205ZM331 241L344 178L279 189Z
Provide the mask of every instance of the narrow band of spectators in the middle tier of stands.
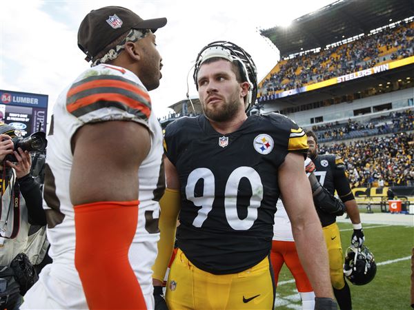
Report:
M360 138L378 134L389 134L414 130L414 112L391 112L388 116L373 118L368 123L348 120L347 123L327 123L312 127L319 142L337 141L349 138Z

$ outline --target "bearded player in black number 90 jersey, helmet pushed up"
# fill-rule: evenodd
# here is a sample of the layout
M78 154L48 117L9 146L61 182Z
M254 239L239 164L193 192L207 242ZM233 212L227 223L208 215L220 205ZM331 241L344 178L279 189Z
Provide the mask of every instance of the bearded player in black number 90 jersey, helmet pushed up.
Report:
M233 43L217 41L201 50L194 79L204 115L179 118L164 136L168 189L160 203L170 211L160 216L153 278L161 285L179 213L168 308L273 309L269 253L282 196L315 289L315 309L336 309L304 171L306 134L280 114L246 115L256 97L256 68Z

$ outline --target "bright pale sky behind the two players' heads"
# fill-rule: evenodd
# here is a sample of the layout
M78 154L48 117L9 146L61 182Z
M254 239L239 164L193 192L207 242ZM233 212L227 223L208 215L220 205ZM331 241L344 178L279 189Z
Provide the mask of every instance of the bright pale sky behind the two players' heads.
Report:
M157 31L163 78L150 92L157 116L186 98L186 77L201 48L232 41L244 48L262 79L279 59L277 49L257 29L286 25L333 0L155 0L155 1L0 1L0 89L48 94L49 112L59 92L88 68L77 48L79 23L90 10L124 6L144 19L166 17ZM197 96L188 80L190 96Z

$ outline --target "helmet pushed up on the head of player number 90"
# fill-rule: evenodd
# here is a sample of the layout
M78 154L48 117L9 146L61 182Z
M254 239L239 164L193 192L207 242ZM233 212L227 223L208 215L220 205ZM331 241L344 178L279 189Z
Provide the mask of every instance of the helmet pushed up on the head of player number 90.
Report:
M250 105L255 103L257 96L257 69L252 57L238 45L229 41L214 41L204 46L195 61L193 78L197 90L197 74L199 69L204 61L213 57L219 57L227 59L232 63L237 63L239 71L242 74L242 81L246 81L249 84L248 94L244 99L244 106L247 111Z

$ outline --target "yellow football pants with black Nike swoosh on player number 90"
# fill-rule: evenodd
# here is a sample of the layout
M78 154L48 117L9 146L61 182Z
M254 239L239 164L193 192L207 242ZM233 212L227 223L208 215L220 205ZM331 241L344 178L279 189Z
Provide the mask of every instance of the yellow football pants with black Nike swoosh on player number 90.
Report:
M239 272L215 275L195 267L181 249L168 275L170 310L273 309L275 286L268 257Z

